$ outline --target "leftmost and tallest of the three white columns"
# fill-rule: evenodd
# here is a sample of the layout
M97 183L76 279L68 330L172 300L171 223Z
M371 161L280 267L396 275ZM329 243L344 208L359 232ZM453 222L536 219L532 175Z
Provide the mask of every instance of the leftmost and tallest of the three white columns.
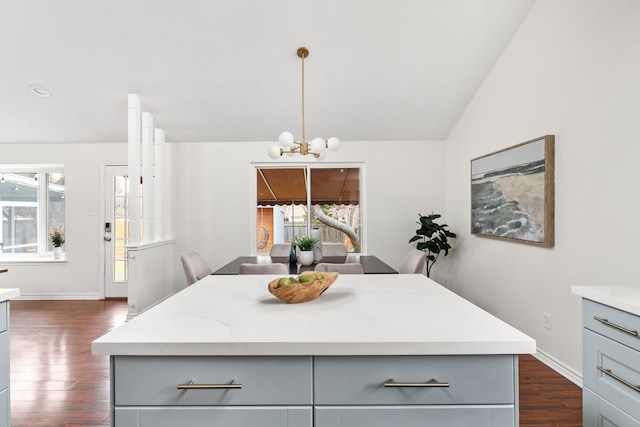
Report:
M129 173L129 241L128 245L140 244L140 98L136 94L128 96L128 173Z

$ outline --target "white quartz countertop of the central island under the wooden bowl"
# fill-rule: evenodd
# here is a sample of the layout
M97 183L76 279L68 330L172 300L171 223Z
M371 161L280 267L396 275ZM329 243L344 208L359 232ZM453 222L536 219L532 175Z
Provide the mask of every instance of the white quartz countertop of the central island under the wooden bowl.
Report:
M208 276L92 344L96 355L522 354L535 340L418 274L341 275L286 304L271 276Z

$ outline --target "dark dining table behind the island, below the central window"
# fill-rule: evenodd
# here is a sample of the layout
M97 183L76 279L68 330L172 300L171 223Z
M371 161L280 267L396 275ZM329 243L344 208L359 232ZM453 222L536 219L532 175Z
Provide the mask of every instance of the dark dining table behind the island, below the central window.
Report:
M362 264L364 274L396 274L398 273L393 267L386 264L380 258L375 255L358 255L349 254L345 256L326 256L319 262L339 263L346 262L358 262ZM233 275L238 274L240 271L240 264L271 264L281 263L289 267L289 274L299 274L303 271L314 270L317 263L311 265L289 264L289 257L270 257L269 255L253 255L253 256L239 256L229 262L228 264L215 270L213 275Z

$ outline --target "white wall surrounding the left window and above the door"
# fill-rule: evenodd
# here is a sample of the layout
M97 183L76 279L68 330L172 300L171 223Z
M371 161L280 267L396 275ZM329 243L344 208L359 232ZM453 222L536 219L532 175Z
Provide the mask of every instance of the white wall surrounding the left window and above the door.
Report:
M3 264L2 286L23 298L100 297L102 165L126 162L126 144L0 144L0 163L64 164L67 240L66 263Z

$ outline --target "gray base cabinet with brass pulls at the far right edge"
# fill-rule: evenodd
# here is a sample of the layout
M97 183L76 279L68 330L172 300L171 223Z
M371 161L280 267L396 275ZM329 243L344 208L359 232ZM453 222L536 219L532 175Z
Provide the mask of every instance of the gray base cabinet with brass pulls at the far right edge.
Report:
M583 300L583 425L640 427L640 317Z

